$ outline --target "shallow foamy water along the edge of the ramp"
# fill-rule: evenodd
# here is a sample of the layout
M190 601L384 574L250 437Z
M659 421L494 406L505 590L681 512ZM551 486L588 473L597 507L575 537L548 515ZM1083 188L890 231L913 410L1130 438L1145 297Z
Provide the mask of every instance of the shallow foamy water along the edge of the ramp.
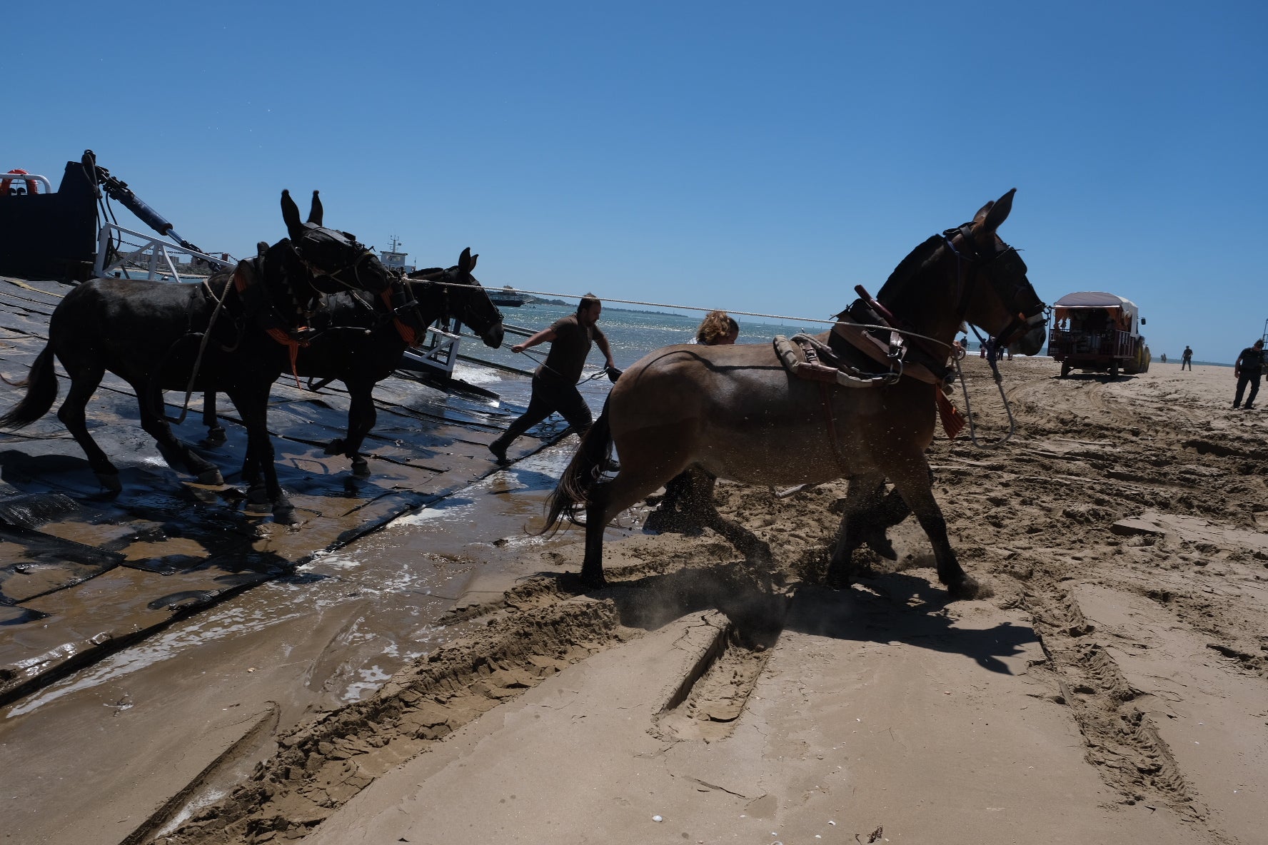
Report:
M327 554L317 555L294 575L246 590L161 633L110 655L74 677L19 702L19 716L65 696L101 687L146 668L176 661L194 649L212 649L232 661L242 642L306 614L349 616L326 645L322 663L333 666L320 682L320 694L339 703L370 696L398 669L435 650L449 636L436 626L470 579L515 547L567 543L576 532L554 540L531 536L540 526L545 497L576 448L576 438L529 456L454 495L393 519L382 530ZM511 550L508 552L508 550ZM579 561L578 561L579 562ZM252 635L256 635L252 637ZM295 644L283 644L289 651ZM171 671L185 671L172 664Z

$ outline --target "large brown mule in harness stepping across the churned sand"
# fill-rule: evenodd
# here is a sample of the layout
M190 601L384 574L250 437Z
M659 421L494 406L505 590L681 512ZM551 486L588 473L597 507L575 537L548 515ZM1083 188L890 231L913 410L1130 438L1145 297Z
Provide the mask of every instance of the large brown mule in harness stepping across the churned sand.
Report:
M971 223L926 241L877 294L907 327L909 340L943 365L964 321L1025 355L1044 345L1044 303L1026 277L1026 265L995 234L1012 200L1008 191L983 206ZM829 334L819 340L827 343ZM856 364L876 369L867 359ZM671 346L652 352L612 388L548 502L545 530L585 507L581 580L602 587L604 527L687 467L777 486L846 476L846 511L829 565L829 574L839 576L848 570L851 552L875 531L869 514L888 478L932 541L938 579L954 597L976 595L976 581L960 568L947 541L924 459L933 440L938 388L910 376L848 390L822 384L790 376L771 345ZM612 443L621 469L605 481L600 473ZM711 495L709 502L706 524L739 545L746 532L716 514Z

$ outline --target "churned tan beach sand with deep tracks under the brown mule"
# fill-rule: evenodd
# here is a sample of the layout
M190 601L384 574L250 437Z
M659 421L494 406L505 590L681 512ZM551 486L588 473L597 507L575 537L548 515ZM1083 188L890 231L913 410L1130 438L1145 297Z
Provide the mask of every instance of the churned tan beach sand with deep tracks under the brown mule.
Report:
M208 679L200 709L190 661L169 718L20 717L6 816L47 817L3 841L1264 841L1264 412L1229 408L1227 367L1000 366L1014 437L931 448L988 599L947 603L912 519L896 564L824 589L843 483L723 484L724 513L775 550L773 594L711 533L611 543L614 585L591 594L578 546L511 543L445 647L355 704L279 721L295 683L279 665ZM998 437L984 362L966 370L978 433ZM224 703L270 684L273 708ZM114 770L22 783L76 744Z

